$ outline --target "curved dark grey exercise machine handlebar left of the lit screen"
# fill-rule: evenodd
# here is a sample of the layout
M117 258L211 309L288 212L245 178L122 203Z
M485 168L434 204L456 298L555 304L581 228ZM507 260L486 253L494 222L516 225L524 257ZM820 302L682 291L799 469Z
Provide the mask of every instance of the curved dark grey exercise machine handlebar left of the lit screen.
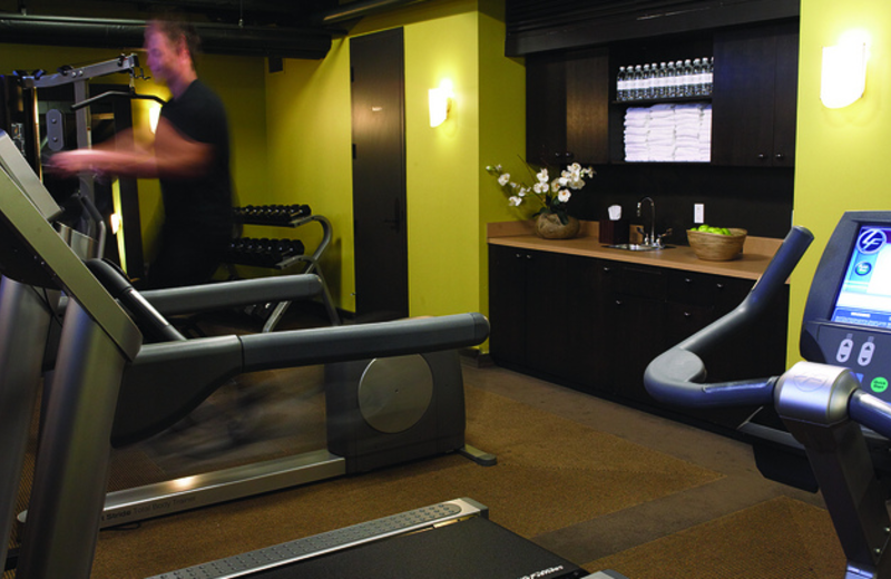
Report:
M777 376L708 384L701 356L721 347L742 326L757 320L785 285L813 238L806 228L793 227L764 274L736 308L649 363L644 372L647 392L660 402L684 406L770 404Z

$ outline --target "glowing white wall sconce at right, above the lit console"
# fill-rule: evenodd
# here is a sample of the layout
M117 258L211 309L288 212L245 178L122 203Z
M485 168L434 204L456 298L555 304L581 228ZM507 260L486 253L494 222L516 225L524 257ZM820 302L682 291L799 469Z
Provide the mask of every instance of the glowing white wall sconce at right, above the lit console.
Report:
M820 100L826 108L854 104L866 88L865 42L844 42L823 47Z

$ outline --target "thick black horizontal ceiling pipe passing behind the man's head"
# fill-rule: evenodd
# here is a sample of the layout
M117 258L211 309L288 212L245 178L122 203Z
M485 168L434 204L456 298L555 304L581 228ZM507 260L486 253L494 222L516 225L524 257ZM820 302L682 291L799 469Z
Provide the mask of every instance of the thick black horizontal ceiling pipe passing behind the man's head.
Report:
M2 42L131 49L143 46L145 20L0 14ZM207 53L324 58L331 33L309 28L196 23Z

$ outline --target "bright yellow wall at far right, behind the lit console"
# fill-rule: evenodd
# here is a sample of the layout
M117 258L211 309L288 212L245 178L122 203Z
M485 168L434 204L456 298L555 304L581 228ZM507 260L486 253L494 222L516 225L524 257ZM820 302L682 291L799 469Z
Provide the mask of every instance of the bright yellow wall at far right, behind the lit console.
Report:
M792 276L790 360L797 355L810 282L845 210L891 209L891 4L884 0L802 0L794 223L815 236ZM820 102L822 47L849 30L872 37L864 97L843 109Z

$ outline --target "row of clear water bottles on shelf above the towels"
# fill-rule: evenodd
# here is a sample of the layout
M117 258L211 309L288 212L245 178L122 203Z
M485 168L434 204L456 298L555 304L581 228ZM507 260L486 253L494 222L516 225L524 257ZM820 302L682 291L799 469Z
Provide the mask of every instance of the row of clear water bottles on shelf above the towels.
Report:
M619 67L616 99L654 100L712 95L714 58Z

